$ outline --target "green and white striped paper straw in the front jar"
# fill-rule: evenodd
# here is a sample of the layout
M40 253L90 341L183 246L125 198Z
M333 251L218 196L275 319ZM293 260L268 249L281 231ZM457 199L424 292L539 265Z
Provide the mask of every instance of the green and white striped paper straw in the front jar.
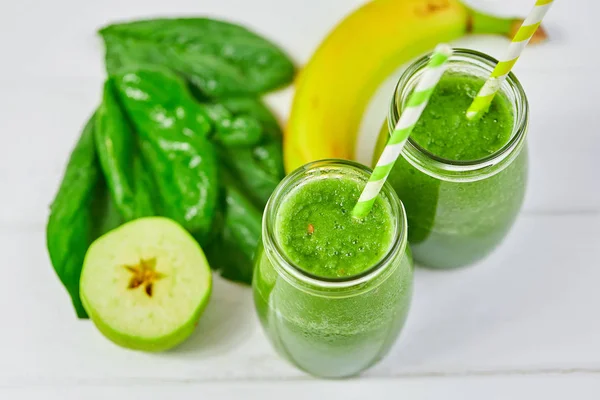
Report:
M404 144L408 140L415 124L427 106L427 102L446 70L446 61L452 55L452 48L447 44L439 44L425 67L423 76L417 83L414 92L408 98L406 107L402 110L400 119L390 136L383 153L377 161L375 169L369 178L369 182L363 189L358 199L358 203L352 210L352 215L356 218L365 217L383 187L396 159L400 155Z

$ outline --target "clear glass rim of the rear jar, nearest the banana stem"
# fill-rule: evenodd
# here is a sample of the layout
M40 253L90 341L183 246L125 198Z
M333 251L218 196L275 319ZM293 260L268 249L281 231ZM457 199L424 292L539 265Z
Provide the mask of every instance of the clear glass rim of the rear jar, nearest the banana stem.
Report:
M398 122L402 106L428 61L429 55L421 57L411 64L398 80L388 115L390 131ZM451 68L453 63L461 62L469 63L469 66L484 72L487 77L498 60L476 50L456 48L448 60L448 68ZM477 160L458 161L437 156L420 146L413 138L409 138L402 150L403 157L422 172L444 180L479 180L504 169L516 158L525 143L529 123L529 103L521 83L513 72L508 74L500 90L508 94L507 97L513 105L514 122L510 140L496 152Z

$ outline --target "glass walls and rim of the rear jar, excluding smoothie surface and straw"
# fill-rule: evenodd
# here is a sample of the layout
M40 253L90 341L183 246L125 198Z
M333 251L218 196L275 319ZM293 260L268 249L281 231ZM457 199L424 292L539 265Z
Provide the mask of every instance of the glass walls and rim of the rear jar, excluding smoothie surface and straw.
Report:
M427 61L417 60L398 81L375 161ZM477 51L455 49L446 73L487 79L497 62ZM513 73L500 91L512 106L514 122L510 139L499 150L474 161L453 161L409 139L394 165L388 182L406 207L408 240L418 264L455 268L475 263L498 246L515 222L527 183L529 106Z

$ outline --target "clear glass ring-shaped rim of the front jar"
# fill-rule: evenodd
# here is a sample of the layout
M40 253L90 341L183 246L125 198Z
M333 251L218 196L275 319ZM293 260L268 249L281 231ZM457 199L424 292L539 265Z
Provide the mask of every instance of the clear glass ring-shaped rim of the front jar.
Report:
M287 175L279 183L277 188L275 188L275 191L269 198L269 201L265 207L262 220L262 235L263 240L265 241L265 250L274 250L266 251L267 257L269 257L269 261L271 261L274 268L278 270L278 272L280 272L281 275L291 284L301 284L305 286L308 285L313 289L324 290L351 289L353 287L359 287L382 275L382 273L387 269L385 267L393 264L395 257L398 254L402 254L406 250L408 234L407 217L404 210L404 205L398 198L398 195L392 186L386 182L382 188L382 193L384 194L386 201L391 208L392 219L394 220L394 235L385 255L381 257L377 263L356 275L341 278L327 278L311 274L290 260L275 236L275 221L279 206L285 199L286 194L289 193L290 187L293 187L293 185L295 185L303 176L318 172L319 170L334 169L348 169L356 174L357 177L361 179L364 178L365 184L372 172L371 169L365 165L342 159L325 159L310 162ZM396 215L398 216L397 218ZM279 271L279 269L281 270ZM385 275L387 276L387 274Z

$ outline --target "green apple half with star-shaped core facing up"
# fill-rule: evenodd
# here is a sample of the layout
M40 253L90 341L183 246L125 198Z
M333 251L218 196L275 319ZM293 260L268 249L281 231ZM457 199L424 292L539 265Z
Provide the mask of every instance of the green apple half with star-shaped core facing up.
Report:
M98 238L79 291L96 327L116 344L163 351L183 342L208 303L212 277L192 236L162 217L141 218Z

